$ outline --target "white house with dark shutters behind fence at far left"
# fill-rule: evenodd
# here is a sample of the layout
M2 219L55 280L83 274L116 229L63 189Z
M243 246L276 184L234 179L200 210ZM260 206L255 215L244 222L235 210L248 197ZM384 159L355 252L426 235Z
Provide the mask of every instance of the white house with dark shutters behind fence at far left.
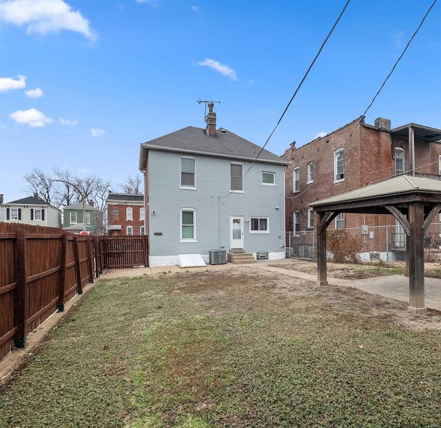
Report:
M61 227L61 211L37 197L24 197L1 207L0 219L3 216L3 222Z

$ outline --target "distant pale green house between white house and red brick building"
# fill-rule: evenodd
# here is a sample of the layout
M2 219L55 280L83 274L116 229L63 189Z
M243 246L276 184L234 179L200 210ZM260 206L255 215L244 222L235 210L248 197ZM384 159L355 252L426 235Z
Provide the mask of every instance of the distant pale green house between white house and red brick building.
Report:
M72 233L89 232L90 235L101 235L101 216L93 202L79 202L63 208L63 229ZM84 220L83 220L84 217Z

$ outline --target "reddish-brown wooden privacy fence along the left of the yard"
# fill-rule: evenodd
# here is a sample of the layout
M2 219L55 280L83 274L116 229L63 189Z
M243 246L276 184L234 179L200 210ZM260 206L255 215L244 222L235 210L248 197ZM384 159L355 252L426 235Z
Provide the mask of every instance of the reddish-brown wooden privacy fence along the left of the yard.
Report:
M0 222L0 360L104 269L147 266L147 237Z

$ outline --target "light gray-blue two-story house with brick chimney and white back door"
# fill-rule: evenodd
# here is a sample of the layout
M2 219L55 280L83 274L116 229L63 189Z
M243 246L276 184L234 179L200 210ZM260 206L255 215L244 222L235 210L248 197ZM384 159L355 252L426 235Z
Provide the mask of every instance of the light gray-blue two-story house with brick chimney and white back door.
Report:
M287 162L224 128L209 104L206 128L141 144L150 266L210 250L285 258ZM230 260L230 258L229 258Z

